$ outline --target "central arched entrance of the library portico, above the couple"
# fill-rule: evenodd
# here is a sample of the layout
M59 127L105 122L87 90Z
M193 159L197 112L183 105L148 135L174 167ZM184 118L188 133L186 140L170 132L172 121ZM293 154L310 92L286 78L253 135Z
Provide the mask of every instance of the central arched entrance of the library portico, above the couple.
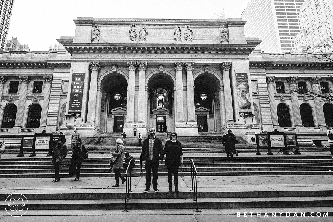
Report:
M165 73L157 73L148 81L148 126L156 132L174 128L173 81Z

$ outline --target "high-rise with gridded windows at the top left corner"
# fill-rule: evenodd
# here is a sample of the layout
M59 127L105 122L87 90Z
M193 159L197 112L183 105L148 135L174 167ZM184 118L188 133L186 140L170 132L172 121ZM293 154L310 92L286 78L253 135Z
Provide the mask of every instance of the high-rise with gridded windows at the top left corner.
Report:
M14 1L15 0L0 0L0 40L1 40L1 45L0 45L0 51L5 50L5 44L7 40L7 35L8 35L8 29L9 29L9 24L10 20L12 17L13 13L13 6L14 6Z

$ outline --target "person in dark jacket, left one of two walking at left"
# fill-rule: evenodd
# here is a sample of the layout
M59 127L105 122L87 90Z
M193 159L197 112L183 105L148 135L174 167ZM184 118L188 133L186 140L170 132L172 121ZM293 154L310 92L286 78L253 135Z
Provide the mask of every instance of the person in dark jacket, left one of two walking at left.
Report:
M52 150L52 163L54 165L54 180L52 182L56 183L60 180L59 175L59 165L65 159L67 155L67 146L63 144L63 140L59 138L57 144Z

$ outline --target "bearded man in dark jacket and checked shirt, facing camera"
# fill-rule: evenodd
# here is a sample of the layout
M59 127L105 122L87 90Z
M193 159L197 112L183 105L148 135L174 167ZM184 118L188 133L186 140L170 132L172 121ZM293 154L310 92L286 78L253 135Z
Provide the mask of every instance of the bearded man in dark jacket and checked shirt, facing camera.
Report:
M154 127L149 128L149 135L150 136L144 139L141 149L142 163L145 164L146 167L146 189L144 192L147 193L150 189L150 174L153 168L153 188L157 193L159 192L159 189L157 189L157 171L159 164L163 161L163 145L161 139L155 135Z

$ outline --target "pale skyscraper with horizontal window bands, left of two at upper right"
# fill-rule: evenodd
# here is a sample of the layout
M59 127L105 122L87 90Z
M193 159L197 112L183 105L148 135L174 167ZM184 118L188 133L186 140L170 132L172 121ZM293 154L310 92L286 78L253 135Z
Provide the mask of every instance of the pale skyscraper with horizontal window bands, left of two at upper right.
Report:
M262 40L265 52L289 52L301 30L300 6L304 0L250 0L241 17L246 21L245 37Z

